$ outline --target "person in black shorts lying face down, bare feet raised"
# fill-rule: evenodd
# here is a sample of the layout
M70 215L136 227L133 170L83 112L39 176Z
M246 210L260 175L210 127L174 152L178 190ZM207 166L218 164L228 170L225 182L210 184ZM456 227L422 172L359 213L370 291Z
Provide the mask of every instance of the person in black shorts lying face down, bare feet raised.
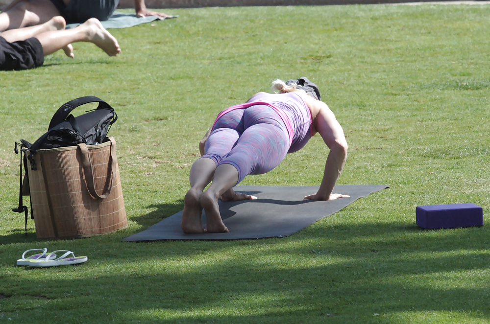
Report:
M95 19L65 29L63 17L54 17L41 25L7 30L0 34L0 70L21 70L40 67L44 56L63 49L73 58L75 42L94 43L109 56L121 53L118 41Z

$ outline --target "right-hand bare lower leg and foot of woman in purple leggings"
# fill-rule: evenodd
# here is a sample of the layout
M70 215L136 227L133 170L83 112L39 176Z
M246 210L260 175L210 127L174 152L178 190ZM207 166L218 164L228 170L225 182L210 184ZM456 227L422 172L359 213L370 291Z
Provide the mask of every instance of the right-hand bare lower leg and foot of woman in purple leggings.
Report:
M215 170L213 183L201 195L200 203L206 212L206 231L210 233L227 232L221 220L218 199L237 184L238 170L231 164L220 164Z

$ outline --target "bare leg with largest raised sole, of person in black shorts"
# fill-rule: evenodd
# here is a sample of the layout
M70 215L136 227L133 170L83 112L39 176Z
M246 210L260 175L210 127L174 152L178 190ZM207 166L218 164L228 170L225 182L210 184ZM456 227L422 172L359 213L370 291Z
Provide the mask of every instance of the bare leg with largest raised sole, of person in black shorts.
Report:
M75 42L94 43L109 56L116 56L121 53L118 41L95 18L91 18L73 29L48 31L37 35L36 38L43 46L44 55L52 54Z

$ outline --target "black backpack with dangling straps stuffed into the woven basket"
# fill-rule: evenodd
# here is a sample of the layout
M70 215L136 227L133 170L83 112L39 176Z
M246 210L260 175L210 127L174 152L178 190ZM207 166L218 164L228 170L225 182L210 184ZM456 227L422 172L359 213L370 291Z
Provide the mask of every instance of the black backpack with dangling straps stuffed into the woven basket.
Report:
M98 107L94 110L86 112L86 114L73 117L70 113L81 105L98 102ZM116 122L118 116L107 102L98 97L86 96L77 99L73 99L61 106L49 123L48 132L37 139L34 143L29 143L25 139L21 139L21 143L15 143L15 153L19 153L18 146L25 153L24 155L24 168L25 168L25 185L24 195L27 195L25 188L28 187L29 179L27 177L27 160L30 162L31 170L37 170L36 162L34 161L34 154L37 150L44 150L50 148L74 146L80 143L87 145L94 145L102 143L106 138L107 133L113 123ZM23 149L24 147L24 149ZM25 156L27 156L27 159ZM22 154L21 154L21 166L20 166L20 189L19 189L19 208L14 208L12 211L25 213L25 234L27 235L27 207L23 206L23 184L22 184ZM31 204L31 218L32 204Z

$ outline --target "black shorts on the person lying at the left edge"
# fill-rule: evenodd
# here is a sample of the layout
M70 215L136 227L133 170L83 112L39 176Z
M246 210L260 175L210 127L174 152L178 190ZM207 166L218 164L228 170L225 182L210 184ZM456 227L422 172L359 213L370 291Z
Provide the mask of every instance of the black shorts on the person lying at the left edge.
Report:
M0 70L33 69L43 63L43 46L37 38L9 43L0 36Z

